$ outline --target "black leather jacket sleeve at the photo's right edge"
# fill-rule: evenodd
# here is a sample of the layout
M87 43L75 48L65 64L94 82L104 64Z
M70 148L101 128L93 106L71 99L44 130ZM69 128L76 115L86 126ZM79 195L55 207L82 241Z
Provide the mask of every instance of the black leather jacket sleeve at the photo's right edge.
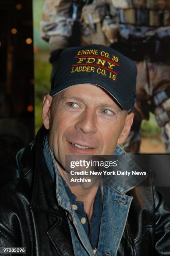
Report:
M155 249L156 255L170 255L170 209L163 196L153 188L155 199Z

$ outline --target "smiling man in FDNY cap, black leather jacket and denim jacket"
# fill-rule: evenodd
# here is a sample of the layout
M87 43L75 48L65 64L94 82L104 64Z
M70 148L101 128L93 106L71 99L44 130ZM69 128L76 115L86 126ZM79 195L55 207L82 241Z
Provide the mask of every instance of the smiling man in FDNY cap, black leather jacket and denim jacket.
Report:
M126 156L117 143L133 123L136 74L133 61L102 45L62 52L44 126L18 152L19 177L0 193L1 247L40 256L170 254L170 212L153 187L67 182L66 155Z

